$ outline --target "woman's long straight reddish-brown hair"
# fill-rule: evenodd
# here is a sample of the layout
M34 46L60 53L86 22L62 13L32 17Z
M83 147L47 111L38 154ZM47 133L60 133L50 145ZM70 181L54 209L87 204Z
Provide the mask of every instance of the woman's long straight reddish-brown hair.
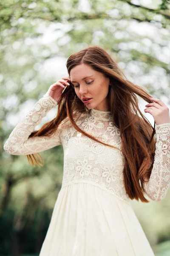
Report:
M149 103L150 95L144 88L128 81L118 64L99 46L89 46L70 55L66 62L69 76L71 69L79 64L87 64L110 79L108 103L113 124L120 129L121 150L97 140L76 125L75 121L81 113L90 113L91 110L87 110L85 104L77 97L73 86L67 87L62 94L58 102L57 116L42 125L39 131L32 132L29 137L54 134L62 121L69 120L71 125L85 136L122 151L125 162L124 184L129 198L149 202L144 198L143 184L149 180L153 168L156 149L155 123L153 128L142 114L136 95ZM42 157L39 153L36 155L39 159L34 154L27 155L28 161L33 166L40 166Z

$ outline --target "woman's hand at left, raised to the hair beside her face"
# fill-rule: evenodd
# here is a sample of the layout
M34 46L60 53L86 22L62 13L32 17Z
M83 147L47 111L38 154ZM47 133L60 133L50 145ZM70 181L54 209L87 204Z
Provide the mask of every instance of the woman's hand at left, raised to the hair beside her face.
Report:
M54 84L51 84L49 87L47 93L57 102L59 102L59 99L62 96L62 91L64 90L65 86L70 86L70 84L67 82L70 81L69 77L62 77Z

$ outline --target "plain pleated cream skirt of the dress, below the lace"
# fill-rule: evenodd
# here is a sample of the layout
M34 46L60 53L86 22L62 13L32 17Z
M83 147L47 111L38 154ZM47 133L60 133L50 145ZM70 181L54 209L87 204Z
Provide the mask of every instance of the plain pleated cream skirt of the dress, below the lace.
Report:
M129 203L90 183L60 189L40 256L154 256Z

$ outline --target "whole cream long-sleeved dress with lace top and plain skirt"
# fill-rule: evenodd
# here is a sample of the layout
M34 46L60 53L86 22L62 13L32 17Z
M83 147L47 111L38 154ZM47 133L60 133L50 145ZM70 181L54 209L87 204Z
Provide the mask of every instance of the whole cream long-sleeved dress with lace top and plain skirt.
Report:
M153 256L123 184L123 156L115 149L60 125L51 137L31 137L57 102L47 93L11 132L4 145L14 155L33 154L62 144L62 187L40 256ZM91 110L77 125L105 143L121 148L111 112ZM170 184L170 123L156 125L156 155L145 192L159 201Z

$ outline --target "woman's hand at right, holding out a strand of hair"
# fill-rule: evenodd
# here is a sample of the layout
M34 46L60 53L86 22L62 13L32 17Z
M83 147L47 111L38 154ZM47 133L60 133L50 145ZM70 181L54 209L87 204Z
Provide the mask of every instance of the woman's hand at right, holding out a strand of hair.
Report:
M161 101L161 99L150 98L153 103L148 103L144 109L145 113L150 113L156 125L161 125L165 123L170 123L170 113L169 108Z

